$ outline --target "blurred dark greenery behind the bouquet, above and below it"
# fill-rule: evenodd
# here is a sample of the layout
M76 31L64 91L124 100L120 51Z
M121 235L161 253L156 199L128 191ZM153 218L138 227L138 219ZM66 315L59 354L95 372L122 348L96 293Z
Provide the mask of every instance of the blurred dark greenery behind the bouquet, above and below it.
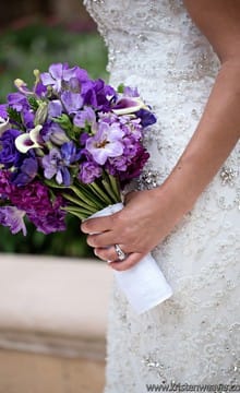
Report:
M107 80L107 50L81 1L12 0L0 22L0 103L14 91L16 78L32 85L33 70L46 71L52 62L77 64L92 78ZM65 233L48 236L29 224L26 237L0 227L0 252L93 255L75 217L68 218Z

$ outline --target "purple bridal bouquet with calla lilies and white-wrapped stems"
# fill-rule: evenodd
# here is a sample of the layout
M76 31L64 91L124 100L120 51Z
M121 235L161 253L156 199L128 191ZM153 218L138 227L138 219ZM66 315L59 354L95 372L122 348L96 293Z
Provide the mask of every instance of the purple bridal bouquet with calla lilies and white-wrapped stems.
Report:
M0 224L12 234L26 234L25 217L50 234L65 230L67 214L122 209L121 191L149 156L144 131L156 121L136 88L116 91L65 63L34 74L32 90L16 80L0 105ZM137 312L171 295L151 255L115 274Z

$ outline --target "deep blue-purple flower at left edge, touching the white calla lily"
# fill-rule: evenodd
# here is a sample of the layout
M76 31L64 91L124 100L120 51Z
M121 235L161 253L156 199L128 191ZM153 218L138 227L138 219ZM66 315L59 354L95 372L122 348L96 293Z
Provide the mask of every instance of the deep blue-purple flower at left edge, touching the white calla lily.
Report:
M20 159L20 152L15 146L15 139L21 132L19 130L8 130L0 138L0 164L5 168L11 168Z

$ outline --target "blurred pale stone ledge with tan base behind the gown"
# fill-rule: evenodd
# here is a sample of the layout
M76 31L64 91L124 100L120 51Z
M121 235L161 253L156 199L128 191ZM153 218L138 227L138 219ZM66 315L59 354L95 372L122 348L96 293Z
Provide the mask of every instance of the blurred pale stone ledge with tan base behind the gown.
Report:
M0 254L0 393L100 393L112 272Z

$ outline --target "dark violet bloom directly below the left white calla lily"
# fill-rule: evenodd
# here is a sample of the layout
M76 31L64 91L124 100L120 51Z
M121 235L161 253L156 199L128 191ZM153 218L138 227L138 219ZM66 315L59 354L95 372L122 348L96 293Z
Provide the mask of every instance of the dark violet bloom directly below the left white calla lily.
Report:
M22 155L25 157L26 155ZM27 156L19 164L19 168L12 174L11 181L16 187L28 184L36 177L38 170L38 163L36 157Z

